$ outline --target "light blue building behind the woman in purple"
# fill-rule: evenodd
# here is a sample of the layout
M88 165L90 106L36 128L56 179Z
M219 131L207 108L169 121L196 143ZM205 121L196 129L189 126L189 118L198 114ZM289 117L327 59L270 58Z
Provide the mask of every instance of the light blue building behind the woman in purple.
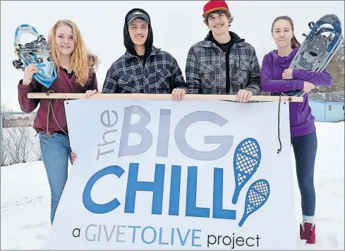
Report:
M309 100L316 122L338 122L344 120L344 102Z

